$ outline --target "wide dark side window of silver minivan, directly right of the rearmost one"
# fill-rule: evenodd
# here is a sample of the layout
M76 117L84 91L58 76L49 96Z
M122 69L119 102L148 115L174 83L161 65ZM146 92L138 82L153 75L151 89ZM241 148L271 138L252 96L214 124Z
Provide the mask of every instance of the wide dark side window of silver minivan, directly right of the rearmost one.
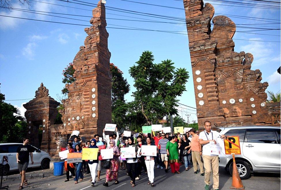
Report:
M248 143L277 143L274 131L247 131Z

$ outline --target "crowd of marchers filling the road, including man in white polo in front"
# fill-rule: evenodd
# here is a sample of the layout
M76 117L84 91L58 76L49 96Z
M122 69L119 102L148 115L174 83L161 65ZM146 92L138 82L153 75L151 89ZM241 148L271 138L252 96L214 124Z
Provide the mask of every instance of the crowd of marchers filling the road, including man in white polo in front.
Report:
M108 137L105 135L103 130L103 136L100 138L98 134L94 135L90 141L82 142L78 141L75 137L69 140L67 148L69 152L81 152L82 148L99 148L104 145L107 149L113 149L113 159L99 160L100 150L98 151L97 158L94 160L86 160L76 164L68 164L65 162L65 170L67 171L67 179L69 181L70 175L73 176L75 184L83 180L83 171L87 174L91 174L92 179L91 185L95 186L96 177L100 179L100 171L102 168L106 168L106 178L103 183L104 186L108 187L109 182L114 181L114 184L118 184L118 172L119 170L126 170L127 175L130 177L130 184L135 187L136 180L139 180L142 176L142 171L147 173L148 185L154 186L154 168L164 169L168 172L168 166L170 166L171 172L180 174L180 166L184 165L185 170L191 169L193 165L194 174L201 173L201 176L205 176L205 189L209 189L210 184L210 171L213 171L214 189L219 187L219 176L218 176L218 156L208 154L208 143L213 141L216 143L217 138L225 139L225 136L220 136L218 132L211 130L210 121L204 123L205 130L199 134L199 131L191 129L186 131L185 134L172 134L157 132L156 135L153 131L144 135L139 133L137 137L125 137L121 135L119 140L119 133L116 128L116 134L110 134ZM198 135L199 134L199 135ZM100 141L100 139L102 139ZM155 156L140 156L137 157L137 153L141 155L142 145L157 146L157 155ZM133 158L121 158L120 148L134 147L136 157ZM203 148L202 148L203 147ZM203 152L202 152L203 151ZM201 156L204 161L201 160ZM198 165L199 169L198 170ZM83 170L84 167L84 170ZM76 172L75 172L76 170Z

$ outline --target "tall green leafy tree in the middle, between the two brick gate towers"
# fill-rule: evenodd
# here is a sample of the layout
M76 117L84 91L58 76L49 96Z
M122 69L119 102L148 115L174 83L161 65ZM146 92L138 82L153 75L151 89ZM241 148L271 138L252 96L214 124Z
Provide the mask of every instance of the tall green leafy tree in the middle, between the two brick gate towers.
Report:
M152 52L145 51L130 67L129 73L134 79L134 101L140 104L147 124L157 123L159 119L169 115L177 115L178 96L186 90L185 83L189 78L186 69L175 69L172 60L164 60L154 64Z

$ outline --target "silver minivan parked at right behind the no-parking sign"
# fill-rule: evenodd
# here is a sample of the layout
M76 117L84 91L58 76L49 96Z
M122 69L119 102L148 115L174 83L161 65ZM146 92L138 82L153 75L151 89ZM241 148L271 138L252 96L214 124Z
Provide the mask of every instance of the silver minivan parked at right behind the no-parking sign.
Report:
M241 155L235 155L235 161L241 179L249 178L251 172L280 173L280 127L221 127L218 131L226 136L239 136ZM223 140L218 142L224 147ZM232 165L232 155L225 155L222 148L219 167L232 174Z

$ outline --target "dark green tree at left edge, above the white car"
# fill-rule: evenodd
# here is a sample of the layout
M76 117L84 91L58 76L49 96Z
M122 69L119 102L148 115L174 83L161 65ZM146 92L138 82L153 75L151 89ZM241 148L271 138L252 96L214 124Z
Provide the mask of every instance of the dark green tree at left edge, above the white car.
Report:
M5 95L0 93L0 131L1 143L20 141L26 135L27 126L25 118L20 111L11 104L4 102Z

